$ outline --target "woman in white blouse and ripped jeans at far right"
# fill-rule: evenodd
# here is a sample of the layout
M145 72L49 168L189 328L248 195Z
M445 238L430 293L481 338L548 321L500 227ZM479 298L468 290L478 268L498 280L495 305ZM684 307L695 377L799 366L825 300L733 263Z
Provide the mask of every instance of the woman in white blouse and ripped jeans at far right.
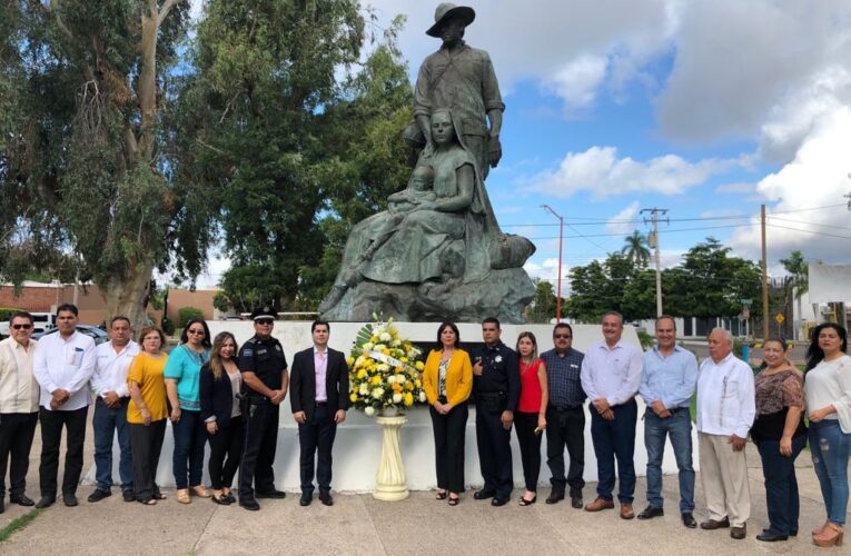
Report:
M810 450L828 513L828 520L813 530L812 539L817 546L840 546L849 496L851 357L845 355L845 329L839 325L819 325L811 338L804 393L810 419Z

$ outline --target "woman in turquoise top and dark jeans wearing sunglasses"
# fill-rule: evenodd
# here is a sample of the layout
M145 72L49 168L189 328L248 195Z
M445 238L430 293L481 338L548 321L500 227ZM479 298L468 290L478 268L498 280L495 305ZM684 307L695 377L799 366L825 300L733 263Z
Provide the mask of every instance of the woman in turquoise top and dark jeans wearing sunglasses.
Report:
M175 433L172 466L177 502L189 504L189 493L209 498L201 484L204 445L207 430L201 419L198 381L201 366L210 359L210 330L200 318L190 319L180 335L180 345L171 350L166 365L166 389L171 404L171 428Z

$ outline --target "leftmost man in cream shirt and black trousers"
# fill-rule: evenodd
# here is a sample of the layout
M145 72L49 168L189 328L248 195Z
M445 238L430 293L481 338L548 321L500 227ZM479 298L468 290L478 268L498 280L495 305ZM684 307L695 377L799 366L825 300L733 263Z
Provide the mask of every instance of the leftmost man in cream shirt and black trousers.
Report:
M31 335L32 315L20 311L9 319L9 337L0 341L0 514L6 510L7 464L9 500L21 506L34 504L26 493L39 415L39 385L32 376L36 340Z

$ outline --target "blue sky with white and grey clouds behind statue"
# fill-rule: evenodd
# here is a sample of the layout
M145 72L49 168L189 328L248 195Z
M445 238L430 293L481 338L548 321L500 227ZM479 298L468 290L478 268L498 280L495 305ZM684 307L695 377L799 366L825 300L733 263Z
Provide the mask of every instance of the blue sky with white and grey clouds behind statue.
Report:
M198 2L195 2L196 7ZM437 2L373 0L375 31L407 17L412 81L439 48ZM486 187L504 231L556 281L619 251L646 209L663 267L707 236L768 264L800 249L851 262L851 2L834 0L482 0L465 40L491 54L506 105L503 159ZM400 189L404 183L400 183ZM201 277L215 284L227 260Z

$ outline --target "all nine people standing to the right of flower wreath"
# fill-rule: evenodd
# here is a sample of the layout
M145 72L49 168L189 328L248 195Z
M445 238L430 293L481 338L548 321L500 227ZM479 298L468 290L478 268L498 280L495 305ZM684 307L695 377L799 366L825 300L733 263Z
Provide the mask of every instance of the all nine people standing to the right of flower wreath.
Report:
M521 332L516 349L511 349L499 340L498 320L488 318L482 322L484 347L471 355L461 349L455 324L442 324L438 347L428 355L423 376L434 427L437 499L448 498L453 506L461 500L467 404L472 403L484 478L475 499L491 499L494 506L508 502L514 486L511 429L515 428L525 481L519 505L537 500L541 434L546 431L552 474L546 503L557 504L570 494L571 505L582 508L584 404L588 399L598 483L595 499L584 508L614 508L617 481L620 516L636 517L634 451L636 396L641 396L647 506L637 518L664 515L662 458L670 438L679 469L680 515L685 527L695 528L691 401L696 391L701 483L709 509L709 519L700 527L730 528L732 538L745 538L751 495L744 448L750 436L763 464L770 523L756 538L778 542L796 536L800 503L794 461L809 435L828 514L825 523L813 529L812 539L818 546L841 545L851 454L851 357L845 355L845 329L832 322L813 329L805 379L790 363L782 338L764 341L763 366L754 376L750 365L733 355L728 330L712 330L710 357L700 366L694 354L677 345L673 317L660 317L655 331L656 345L642 353L623 340L623 317L612 311L603 317L603 341L586 354L572 347L571 325L560 322L553 329L553 349L538 356L532 332Z

